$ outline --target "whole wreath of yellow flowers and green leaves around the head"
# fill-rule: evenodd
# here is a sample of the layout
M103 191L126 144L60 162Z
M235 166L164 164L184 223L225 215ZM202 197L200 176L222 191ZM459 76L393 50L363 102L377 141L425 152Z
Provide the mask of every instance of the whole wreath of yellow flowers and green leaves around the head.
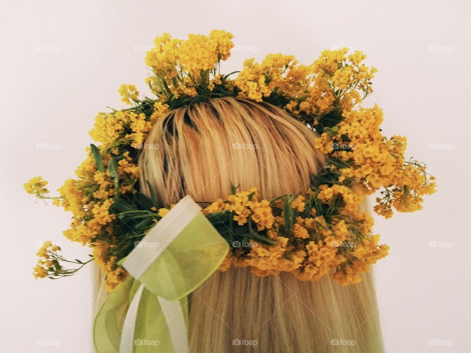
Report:
M139 98L134 85L122 85L122 101L131 107L99 113L87 158L65 181L60 197L49 197L40 176L25 184L28 193L72 212L64 235L92 249L87 261L67 260L60 247L45 242L38 252L35 277L65 277L95 260L111 291L127 276L120 265L155 223L172 207L157 208L156 193L144 195L137 160L154 123L172 109L218 97L268 102L315 129L315 146L326 165L314 176L306 195L263 200L257 189L216 200L202 212L231 245L220 270L251 267L259 276L291 272L300 280L331 275L342 285L361 281L360 274L388 254L372 233L373 220L360 204L379 192L374 211L386 218L392 210L412 212L422 196L435 191L425 164L404 157L406 139L386 138L382 110L356 108L372 92L376 69L363 64L361 51L325 50L313 64L294 56L269 54L261 63L244 62L237 77L220 73L233 35L213 30L187 40L165 33L147 52L152 69L146 82L154 98ZM74 268L66 267L72 263Z

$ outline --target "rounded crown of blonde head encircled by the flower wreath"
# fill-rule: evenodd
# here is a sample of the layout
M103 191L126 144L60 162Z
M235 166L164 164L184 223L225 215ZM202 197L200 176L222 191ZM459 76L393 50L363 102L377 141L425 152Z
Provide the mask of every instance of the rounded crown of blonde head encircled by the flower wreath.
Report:
M270 199L305 193L322 167L313 130L266 103L213 99L173 110L157 121L141 154L143 180L162 203L184 195L213 202L256 187ZM143 189L147 190L146 183Z

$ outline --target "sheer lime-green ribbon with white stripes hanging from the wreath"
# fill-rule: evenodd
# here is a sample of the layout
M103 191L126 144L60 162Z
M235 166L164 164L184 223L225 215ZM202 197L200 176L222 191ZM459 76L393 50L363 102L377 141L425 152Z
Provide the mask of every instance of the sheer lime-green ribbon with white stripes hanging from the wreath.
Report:
M184 353L186 296L217 271L229 244L189 196L122 261L130 276L95 318L97 353Z

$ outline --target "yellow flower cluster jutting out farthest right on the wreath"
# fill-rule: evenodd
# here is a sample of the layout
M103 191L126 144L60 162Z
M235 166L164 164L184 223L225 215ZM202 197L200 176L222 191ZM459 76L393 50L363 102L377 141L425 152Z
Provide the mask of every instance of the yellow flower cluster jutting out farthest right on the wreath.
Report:
M386 218L392 216L392 207L399 212L421 209L422 196L435 192L435 178L427 177L423 164L404 160L404 137L386 139L381 134L382 110L375 105L344 110L342 116L334 137L323 133L316 141L319 150L348 164L340 169L340 181L358 180L353 186L359 196L383 189L383 198L377 199L374 210ZM340 136L348 136L348 142L341 141ZM346 148L334 151L333 146Z

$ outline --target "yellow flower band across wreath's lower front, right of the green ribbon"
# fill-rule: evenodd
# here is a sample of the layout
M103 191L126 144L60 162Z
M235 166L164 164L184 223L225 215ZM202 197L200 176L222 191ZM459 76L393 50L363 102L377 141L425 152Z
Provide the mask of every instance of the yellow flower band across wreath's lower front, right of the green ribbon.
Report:
M214 214L218 220L224 217L224 212L229 212L238 226L257 223L257 210L264 215L264 227L258 227L257 236L250 233L249 225L249 233L246 234L248 247L234 248L220 270L226 271L231 266L250 267L257 276L291 272L300 280L318 280L334 271L333 278L342 285L360 281L360 273L369 271L369 266L386 256L389 248L378 245L379 236L371 234L371 217L358 212L361 197L356 197L344 186L324 186L317 196L311 193L284 201L289 202L288 210L280 200L273 204L267 200L259 201L260 194L255 188L219 199L206 207L203 213ZM341 214L327 222L315 208L307 208L315 203L315 198L329 204L337 195L348 202L349 207L343 211L349 217L351 211L356 212L355 222ZM260 205L264 206L258 208ZM281 215L277 216L280 211ZM286 224L287 212L291 216L298 215L292 226ZM271 241L269 244L260 239L262 233Z

